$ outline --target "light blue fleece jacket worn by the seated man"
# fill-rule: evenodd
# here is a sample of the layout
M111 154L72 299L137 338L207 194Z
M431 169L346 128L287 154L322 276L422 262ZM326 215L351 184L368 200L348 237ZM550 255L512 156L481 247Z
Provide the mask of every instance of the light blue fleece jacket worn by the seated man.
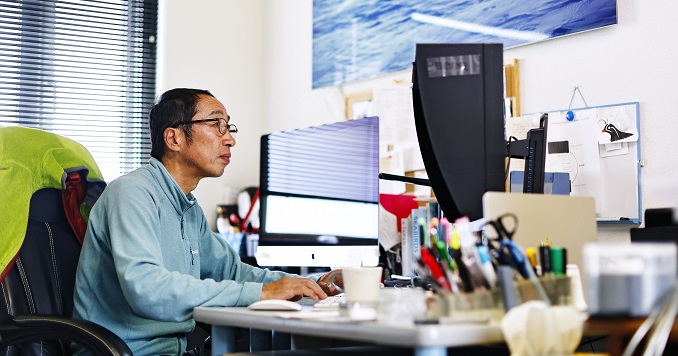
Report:
M160 161L112 181L80 253L74 316L120 336L135 355L180 355L196 306L246 306L289 275L255 268L210 230L193 194Z

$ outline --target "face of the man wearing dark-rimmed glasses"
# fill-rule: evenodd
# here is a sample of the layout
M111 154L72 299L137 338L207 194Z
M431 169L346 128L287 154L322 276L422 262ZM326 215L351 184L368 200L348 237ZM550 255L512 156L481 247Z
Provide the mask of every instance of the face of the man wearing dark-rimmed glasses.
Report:
M200 95L197 109L191 120L229 120L226 108L211 96ZM192 141L182 155L188 168L199 178L221 176L231 162L231 147L235 145L235 139L228 130L222 135L217 122L201 122L191 126Z

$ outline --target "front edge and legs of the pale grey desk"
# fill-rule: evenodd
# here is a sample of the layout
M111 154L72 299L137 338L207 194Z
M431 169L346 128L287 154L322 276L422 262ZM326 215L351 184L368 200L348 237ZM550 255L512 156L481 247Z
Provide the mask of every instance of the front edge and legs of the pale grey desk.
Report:
M196 321L212 325L212 355L233 351L233 327L411 347L416 355L446 355L448 347L503 342L498 324L345 323L317 319L284 319L277 317L278 313L252 311L247 308L198 307L193 310L193 317Z

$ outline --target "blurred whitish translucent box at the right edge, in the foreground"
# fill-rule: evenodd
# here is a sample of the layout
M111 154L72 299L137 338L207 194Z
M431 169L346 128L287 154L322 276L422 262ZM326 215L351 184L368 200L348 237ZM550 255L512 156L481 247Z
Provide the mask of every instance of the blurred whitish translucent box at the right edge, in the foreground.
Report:
M676 282L674 243L584 245L589 314L645 316Z

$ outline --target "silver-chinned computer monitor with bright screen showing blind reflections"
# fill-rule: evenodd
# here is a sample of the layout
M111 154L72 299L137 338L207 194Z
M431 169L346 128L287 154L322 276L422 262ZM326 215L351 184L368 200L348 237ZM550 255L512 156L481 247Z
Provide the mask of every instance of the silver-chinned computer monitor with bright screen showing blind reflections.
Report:
M377 117L263 135L257 263L376 265L378 173Z

